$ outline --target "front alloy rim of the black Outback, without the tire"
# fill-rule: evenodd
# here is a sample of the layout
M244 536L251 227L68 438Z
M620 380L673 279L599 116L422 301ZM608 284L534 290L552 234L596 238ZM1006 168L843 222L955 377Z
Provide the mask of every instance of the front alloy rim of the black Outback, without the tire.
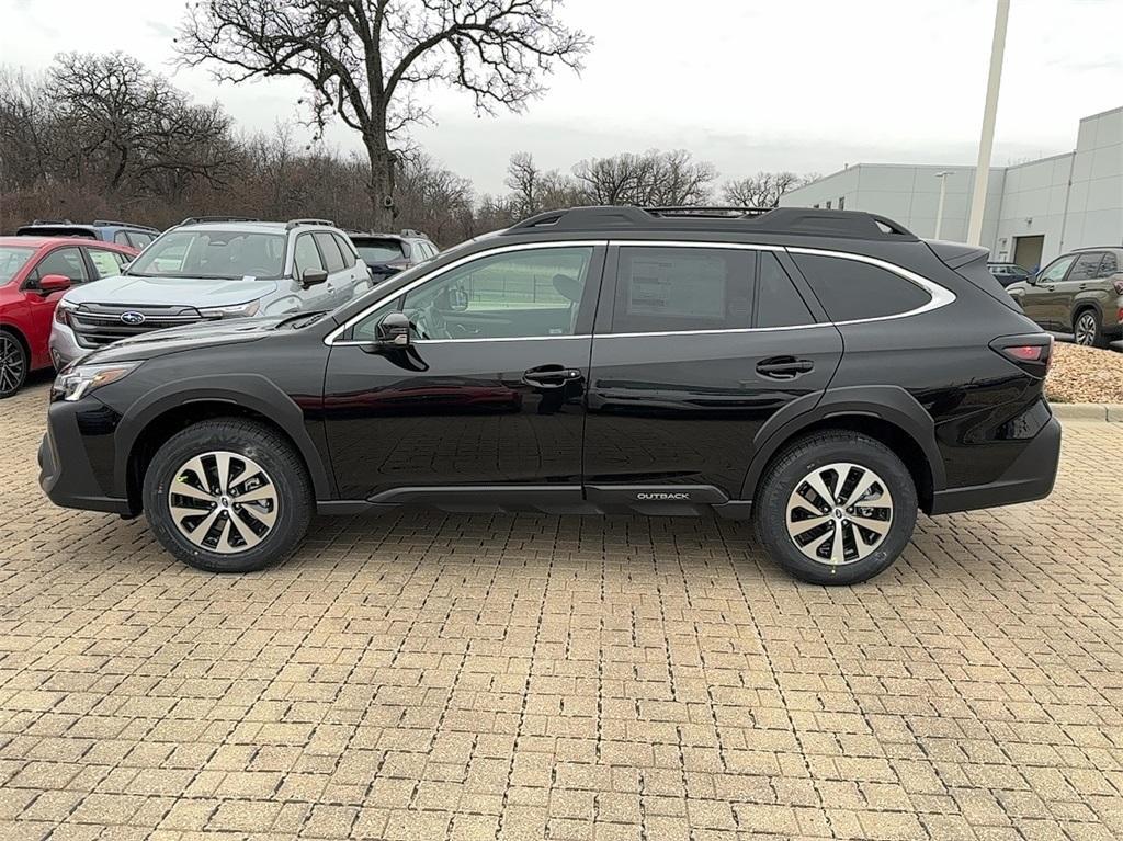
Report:
M280 495L273 479L238 453L203 453L185 461L167 492L180 533L195 546L236 555L262 542L276 523Z

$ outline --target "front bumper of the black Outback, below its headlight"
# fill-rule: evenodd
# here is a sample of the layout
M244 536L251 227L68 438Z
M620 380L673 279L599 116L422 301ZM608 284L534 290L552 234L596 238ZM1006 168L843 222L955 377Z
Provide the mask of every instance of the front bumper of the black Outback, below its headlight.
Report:
M99 473L107 473L106 465L98 464L102 448L99 439L111 438L115 419L111 410L92 397L51 404L47 433L39 445L39 486L53 503L111 514L136 513L125 494L107 493L98 478ZM95 470L95 464L100 469ZM109 476L103 481L111 483Z

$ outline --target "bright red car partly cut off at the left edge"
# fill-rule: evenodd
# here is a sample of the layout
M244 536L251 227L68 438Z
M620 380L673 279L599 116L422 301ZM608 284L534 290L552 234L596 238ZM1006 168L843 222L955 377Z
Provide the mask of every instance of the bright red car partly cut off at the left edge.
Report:
M119 274L139 252L74 237L0 237L0 397L51 366L55 304L71 286Z

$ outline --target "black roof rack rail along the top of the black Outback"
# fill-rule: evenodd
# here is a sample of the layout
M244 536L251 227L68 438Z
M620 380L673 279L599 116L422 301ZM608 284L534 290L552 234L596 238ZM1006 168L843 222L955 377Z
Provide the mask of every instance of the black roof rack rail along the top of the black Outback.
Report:
M877 213L816 208L637 208L550 210L517 222L501 236L549 231L692 231L794 234L916 241L903 226Z

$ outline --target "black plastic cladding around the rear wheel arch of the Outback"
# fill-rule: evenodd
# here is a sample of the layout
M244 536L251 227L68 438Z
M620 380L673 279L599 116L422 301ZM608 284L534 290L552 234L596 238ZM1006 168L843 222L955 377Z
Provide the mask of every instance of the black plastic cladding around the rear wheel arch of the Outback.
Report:
M924 408L900 386L853 386L828 391L813 409L795 418L777 418L761 427L741 499L757 495L768 466L788 444L825 429L866 435L893 450L909 468L924 511L931 508L933 493L947 485L934 423Z

